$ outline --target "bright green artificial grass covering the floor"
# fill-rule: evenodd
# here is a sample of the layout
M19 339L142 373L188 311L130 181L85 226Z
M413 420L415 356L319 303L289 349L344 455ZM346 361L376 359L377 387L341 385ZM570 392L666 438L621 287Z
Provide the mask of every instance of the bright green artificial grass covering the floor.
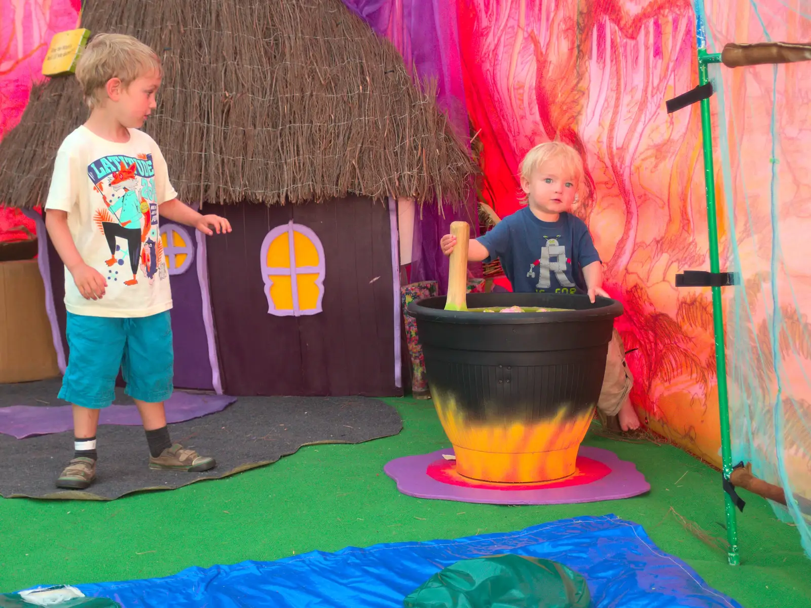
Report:
M725 537L720 474L673 446L586 438L587 445L637 465L651 485L642 497L539 507L424 500L397 492L384 464L447 447L448 440L430 401L388 403L404 421L396 437L308 446L224 480L110 502L0 499L0 592L169 576L190 566L508 532L614 513L642 524L660 549L747 608L809 606L811 560L796 529L779 523L762 498L742 491L741 565L727 566L725 551L713 546ZM103 467L103 428L99 451Z

